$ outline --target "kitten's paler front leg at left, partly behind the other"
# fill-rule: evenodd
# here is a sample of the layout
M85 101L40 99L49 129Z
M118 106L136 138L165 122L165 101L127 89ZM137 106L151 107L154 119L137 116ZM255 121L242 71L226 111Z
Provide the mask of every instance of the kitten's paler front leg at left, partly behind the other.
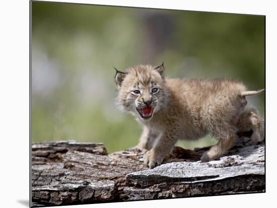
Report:
M144 127L140 142L136 145L136 148L150 150L153 148L154 143L158 137L159 134L157 132Z

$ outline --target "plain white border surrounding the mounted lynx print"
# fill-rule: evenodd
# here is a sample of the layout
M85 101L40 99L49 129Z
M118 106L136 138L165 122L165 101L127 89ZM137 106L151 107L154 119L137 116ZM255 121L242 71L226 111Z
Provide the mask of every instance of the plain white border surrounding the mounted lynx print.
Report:
M62 207L205 206L261 207L273 201L276 187L276 7L274 1L56 1L130 7L266 15L266 193L194 197ZM2 207L27 207L29 198L29 2L3 1L1 21L1 190ZM275 139L275 140L274 140ZM22 202L23 201L23 202Z

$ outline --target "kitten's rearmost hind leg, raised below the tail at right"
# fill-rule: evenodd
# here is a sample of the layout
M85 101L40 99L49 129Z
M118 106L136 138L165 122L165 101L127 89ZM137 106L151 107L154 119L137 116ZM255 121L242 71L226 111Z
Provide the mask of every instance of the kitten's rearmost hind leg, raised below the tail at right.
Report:
M256 109L246 109L238 121L240 132L252 130L251 144L255 145L264 140L264 123Z

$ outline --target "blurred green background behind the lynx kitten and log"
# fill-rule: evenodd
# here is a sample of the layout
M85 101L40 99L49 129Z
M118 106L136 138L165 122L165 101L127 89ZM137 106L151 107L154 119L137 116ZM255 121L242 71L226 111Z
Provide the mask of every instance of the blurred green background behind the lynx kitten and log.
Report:
M169 77L264 88L264 27L263 16L32 2L32 141L135 146L141 127L115 106L112 66L164 61ZM264 94L248 101L264 118Z

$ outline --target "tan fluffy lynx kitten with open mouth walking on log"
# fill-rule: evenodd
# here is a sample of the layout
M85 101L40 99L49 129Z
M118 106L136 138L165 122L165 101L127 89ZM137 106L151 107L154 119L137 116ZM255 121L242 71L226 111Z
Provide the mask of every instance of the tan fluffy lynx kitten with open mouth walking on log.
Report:
M178 139L196 140L211 134L218 143L201 161L215 160L234 144L239 131L253 131L251 142L264 139L264 124L258 112L246 109L243 83L229 79L172 79L164 77L164 65L138 65L126 72L116 69L117 103L143 126L138 148L148 151L144 163L160 165Z

